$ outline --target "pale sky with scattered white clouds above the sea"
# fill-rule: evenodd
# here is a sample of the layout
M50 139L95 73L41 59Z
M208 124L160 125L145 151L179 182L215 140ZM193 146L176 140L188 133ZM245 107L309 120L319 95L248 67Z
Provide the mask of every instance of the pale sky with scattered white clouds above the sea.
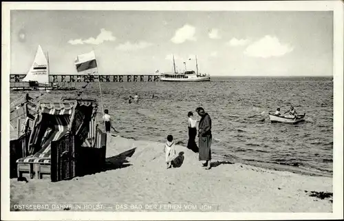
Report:
M12 10L12 74L38 45L50 74L77 74L94 50L100 74L195 70L211 76L332 76L333 12Z

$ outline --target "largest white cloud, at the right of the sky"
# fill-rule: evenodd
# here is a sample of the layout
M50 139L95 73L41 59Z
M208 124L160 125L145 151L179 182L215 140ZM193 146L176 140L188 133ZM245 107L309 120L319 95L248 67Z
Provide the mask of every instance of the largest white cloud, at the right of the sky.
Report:
M292 50L294 48L290 47L290 45L283 45L276 36L266 35L264 38L248 45L244 54L265 59L271 56L282 56L292 52Z

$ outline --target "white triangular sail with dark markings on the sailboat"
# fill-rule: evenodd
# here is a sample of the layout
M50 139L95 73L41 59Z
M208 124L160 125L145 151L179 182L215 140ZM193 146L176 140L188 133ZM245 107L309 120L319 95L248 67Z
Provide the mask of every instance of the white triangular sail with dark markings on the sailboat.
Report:
M28 74L23 78L24 82L37 81L38 83L49 83L49 63L43 53L41 45L37 48L34 62L32 63Z

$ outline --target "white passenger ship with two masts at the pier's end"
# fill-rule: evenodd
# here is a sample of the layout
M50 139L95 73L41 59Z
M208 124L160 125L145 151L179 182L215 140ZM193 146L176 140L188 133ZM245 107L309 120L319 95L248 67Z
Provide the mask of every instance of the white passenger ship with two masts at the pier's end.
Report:
M189 59L191 60L191 59ZM173 55L173 73L163 73L160 74L160 81L182 81L182 82L191 82L191 81L211 81L211 76L209 74L200 74L198 73L198 63L197 56L195 56L196 61L196 72L194 70L186 70L184 72L177 72L175 70L175 59Z

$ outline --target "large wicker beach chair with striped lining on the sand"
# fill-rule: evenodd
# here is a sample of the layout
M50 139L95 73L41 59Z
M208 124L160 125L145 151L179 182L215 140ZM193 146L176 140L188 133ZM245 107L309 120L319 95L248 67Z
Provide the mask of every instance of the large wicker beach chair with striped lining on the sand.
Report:
M97 109L96 101L82 99L40 103L28 143L30 156L17 160L18 177L29 173L30 178L48 175L52 181L74 178L87 173L83 165L90 158L96 160L89 165L99 171L105 162L106 136L96 128Z

